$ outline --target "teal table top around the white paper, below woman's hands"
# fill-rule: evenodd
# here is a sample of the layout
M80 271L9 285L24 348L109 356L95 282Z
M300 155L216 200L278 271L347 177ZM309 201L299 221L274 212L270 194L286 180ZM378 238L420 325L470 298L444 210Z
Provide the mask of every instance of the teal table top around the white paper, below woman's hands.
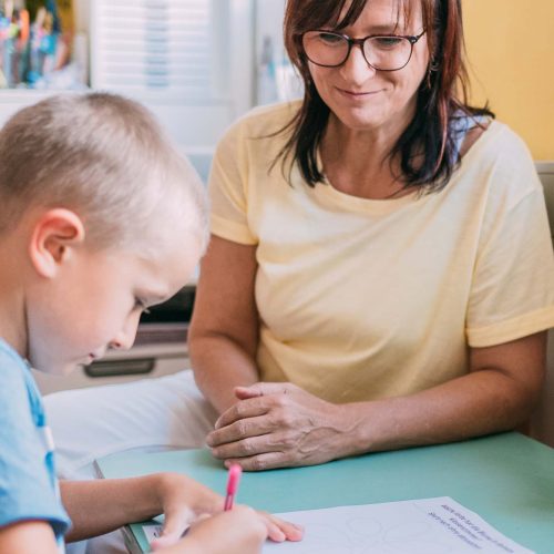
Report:
M227 472L207 450L123 453L96 463L105 478L176 471L225 493ZM244 473L237 500L291 512L433 496L451 496L527 548L554 552L554 449L519 433Z

